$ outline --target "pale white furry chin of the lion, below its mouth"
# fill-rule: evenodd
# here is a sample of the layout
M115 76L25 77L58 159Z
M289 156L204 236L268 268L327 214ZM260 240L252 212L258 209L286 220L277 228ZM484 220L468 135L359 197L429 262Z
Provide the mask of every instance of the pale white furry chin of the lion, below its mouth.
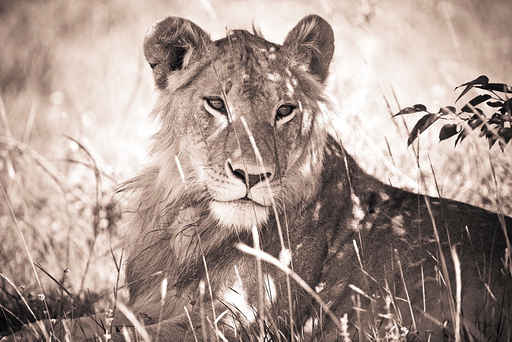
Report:
M268 219L268 208L250 200L211 201L210 212L225 227L250 230Z

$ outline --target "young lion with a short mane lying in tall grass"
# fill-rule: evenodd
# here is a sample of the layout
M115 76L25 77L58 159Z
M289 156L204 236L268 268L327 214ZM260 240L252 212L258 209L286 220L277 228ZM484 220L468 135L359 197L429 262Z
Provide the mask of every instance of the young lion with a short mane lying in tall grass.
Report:
M334 36L324 19L306 16L283 45L253 31L212 41L166 17L146 33L160 129L152 161L125 184L125 248L129 304L148 335L509 336L512 219L358 167L331 126Z

